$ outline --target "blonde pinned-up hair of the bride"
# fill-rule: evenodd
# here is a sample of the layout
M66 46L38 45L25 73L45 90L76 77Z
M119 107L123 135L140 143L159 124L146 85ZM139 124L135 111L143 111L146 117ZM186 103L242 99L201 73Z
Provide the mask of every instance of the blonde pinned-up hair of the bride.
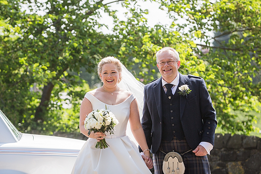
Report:
M118 68L118 71L119 73L121 74L122 73L122 64L121 62L119 61L119 59L117 59L116 57L113 57L113 56L108 56L108 57L104 57L98 64L98 67L97 67L97 72L98 72L98 75L102 73L102 66L104 64L115 64ZM100 75L99 75L99 78ZM118 83L121 81L122 79L122 76L120 75L119 76L119 80L118 80Z

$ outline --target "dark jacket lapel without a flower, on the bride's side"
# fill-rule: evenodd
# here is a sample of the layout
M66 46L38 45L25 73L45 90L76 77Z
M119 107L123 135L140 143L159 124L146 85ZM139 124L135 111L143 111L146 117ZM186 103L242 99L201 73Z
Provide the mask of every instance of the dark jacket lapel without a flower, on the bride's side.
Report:
M162 95L161 95L162 80L161 80L161 78L159 78L158 80L155 81L155 86L153 87L153 89L154 89L154 96L155 96L155 101L156 101L156 105L157 105L158 115L162 122Z

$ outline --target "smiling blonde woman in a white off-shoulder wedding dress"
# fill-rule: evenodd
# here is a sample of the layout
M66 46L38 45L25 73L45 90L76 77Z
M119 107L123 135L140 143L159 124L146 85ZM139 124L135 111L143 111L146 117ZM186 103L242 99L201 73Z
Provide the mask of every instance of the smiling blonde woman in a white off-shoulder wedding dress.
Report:
M103 86L87 92L81 103L80 131L89 138L78 154L72 174L151 174L148 168L152 168L153 164L140 123L138 108L142 101L137 103L134 94L125 90L137 82L128 83L129 85L127 83L124 85L123 82L119 84L122 78L125 82L133 80L130 75L122 77L123 68L127 71L118 59L111 56L103 58L98 64L97 70ZM86 115L92 110L104 109L105 105L119 121L119 124L115 126L114 134L92 132L88 136L88 130L84 128ZM135 143L126 135L128 120L130 130L144 151L144 156L140 155ZM109 147L96 149L97 141L104 137Z

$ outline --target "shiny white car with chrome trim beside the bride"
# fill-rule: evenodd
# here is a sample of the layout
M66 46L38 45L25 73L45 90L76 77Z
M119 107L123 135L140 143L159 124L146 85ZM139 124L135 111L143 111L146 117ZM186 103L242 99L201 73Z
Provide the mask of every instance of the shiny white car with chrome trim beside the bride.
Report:
M84 143L21 133L0 110L0 174L70 174Z

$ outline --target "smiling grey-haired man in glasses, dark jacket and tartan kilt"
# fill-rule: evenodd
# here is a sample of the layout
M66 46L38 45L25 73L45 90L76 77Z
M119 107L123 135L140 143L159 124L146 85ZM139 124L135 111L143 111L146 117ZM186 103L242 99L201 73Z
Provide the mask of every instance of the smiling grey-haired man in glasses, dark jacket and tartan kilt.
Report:
M165 153L191 150L182 156L185 173L210 174L206 155L214 145L217 121L205 81L178 72L181 62L173 48L162 48L156 57L162 77L145 85L142 117L154 172L163 174ZM187 96L178 93L182 85L191 90Z

